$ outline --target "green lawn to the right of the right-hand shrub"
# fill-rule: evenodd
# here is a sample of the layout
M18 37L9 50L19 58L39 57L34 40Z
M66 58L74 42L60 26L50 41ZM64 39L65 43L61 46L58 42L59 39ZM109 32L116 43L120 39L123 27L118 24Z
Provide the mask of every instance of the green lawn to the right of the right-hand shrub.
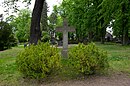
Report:
M109 65L114 72L130 74L130 46L119 44L99 44L97 46L108 53Z

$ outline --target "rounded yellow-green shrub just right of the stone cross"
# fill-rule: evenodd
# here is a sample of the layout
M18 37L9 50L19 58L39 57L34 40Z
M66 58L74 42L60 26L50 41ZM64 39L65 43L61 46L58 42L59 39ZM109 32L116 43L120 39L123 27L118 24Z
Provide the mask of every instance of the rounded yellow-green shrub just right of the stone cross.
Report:
M69 62L78 73L88 75L108 67L107 53L91 43L78 44L69 51Z

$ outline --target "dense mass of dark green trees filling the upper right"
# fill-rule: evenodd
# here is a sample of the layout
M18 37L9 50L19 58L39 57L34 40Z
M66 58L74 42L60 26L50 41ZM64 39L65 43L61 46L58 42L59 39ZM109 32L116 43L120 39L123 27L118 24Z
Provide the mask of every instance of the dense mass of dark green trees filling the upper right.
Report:
M113 35L127 45L130 37L129 4L129 0L63 0L54 12L75 26L78 41L87 38L89 42L104 43L106 28L113 27Z

